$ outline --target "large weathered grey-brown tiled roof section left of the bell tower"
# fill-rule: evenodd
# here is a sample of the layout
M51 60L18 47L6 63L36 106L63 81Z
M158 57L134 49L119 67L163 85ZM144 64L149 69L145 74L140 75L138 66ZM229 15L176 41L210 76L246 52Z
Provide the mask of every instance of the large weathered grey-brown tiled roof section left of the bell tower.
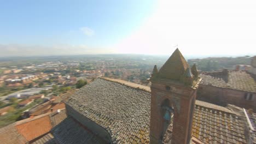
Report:
M114 143L149 143L148 91L96 79L66 104L106 129Z

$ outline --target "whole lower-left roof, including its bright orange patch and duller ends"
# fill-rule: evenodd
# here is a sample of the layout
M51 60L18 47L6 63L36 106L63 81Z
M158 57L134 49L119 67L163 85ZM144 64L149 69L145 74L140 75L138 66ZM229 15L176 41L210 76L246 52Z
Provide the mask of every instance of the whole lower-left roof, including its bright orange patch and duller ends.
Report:
M64 109L60 113L45 113L9 124L0 129L1 143L27 143L30 141L35 142L34 140L37 141L39 139L44 141L47 137L43 135L50 133L51 128L61 123L66 117L66 110Z

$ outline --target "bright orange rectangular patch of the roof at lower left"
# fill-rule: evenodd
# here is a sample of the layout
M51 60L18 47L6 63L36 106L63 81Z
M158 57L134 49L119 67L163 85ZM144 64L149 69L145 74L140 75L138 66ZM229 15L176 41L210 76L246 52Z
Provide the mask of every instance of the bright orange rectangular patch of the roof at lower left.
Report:
M51 121L48 115L16 125L16 129L27 141L48 133L51 128Z

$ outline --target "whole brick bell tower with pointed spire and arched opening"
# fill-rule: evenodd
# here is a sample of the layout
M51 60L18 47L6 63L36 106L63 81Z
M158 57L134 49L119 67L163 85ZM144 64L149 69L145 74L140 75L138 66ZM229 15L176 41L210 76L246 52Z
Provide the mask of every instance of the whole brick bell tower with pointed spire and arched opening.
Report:
M201 82L196 66L190 70L176 49L159 71L155 65L150 81L150 143L190 143L196 90Z

